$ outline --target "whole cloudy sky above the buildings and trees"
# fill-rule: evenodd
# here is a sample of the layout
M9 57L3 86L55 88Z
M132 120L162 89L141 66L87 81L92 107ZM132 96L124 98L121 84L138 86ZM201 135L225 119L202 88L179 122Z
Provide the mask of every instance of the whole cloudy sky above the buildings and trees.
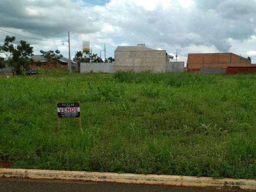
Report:
M234 52L256 63L256 0L0 0L0 29L40 50L68 56L90 41L114 56L118 45L146 44L175 54ZM8 32L0 31L0 44ZM58 41L58 42L53 42ZM103 55L103 52L101 53Z

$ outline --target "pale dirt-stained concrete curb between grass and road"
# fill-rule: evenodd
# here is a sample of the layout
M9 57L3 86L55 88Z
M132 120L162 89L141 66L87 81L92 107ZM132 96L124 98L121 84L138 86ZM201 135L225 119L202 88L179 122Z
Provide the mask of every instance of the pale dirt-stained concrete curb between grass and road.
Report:
M61 179L84 180L96 182L118 182L132 184L156 184L185 187L214 187L229 189L256 190L256 180L213 179L209 177L117 174L80 171L26 170L0 168L0 177L31 178L31 179Z

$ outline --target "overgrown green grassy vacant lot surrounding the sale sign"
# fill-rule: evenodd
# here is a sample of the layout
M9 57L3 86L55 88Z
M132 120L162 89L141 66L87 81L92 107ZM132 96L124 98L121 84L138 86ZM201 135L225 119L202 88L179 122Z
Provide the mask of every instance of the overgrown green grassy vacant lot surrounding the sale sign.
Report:
M81 102L56 132L56 102ZM14 168L256 179L256 75L0 79L0 160Z

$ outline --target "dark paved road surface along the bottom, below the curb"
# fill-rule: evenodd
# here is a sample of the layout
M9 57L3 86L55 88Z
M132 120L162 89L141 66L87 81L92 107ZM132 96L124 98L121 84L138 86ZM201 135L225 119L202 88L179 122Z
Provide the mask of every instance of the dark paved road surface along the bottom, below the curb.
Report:
M238 190L234 190L238 192ZM0 192L220 192L170 186L0 178Z

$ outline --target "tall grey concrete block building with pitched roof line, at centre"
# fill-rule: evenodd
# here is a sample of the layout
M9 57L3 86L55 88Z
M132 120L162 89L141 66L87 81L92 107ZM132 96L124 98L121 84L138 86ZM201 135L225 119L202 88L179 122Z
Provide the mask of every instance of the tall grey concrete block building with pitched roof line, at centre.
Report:
M144 44L118 46L115 50L115 71L166 72L166 65L173 59L166 50L156 50Z

